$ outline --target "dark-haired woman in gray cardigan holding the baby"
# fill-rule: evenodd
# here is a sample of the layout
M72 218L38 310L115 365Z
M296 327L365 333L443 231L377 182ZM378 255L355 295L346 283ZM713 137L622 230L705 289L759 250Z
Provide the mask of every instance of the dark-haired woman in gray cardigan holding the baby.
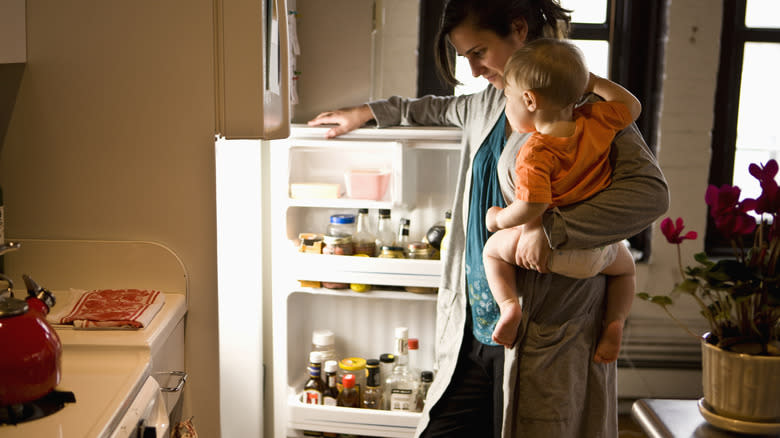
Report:
M603 276L574 280L537 272L550 248L589 248L646 228L668 206L668 189L635 125L615 137L611 186L586 202L548 212L543 229L518 245L523 320L511 349L490 339L499 312L487 288L482 248L485 213L513 199L514 157L527 134L504 116L504 64L526 41L562 38L568 11L553 0L450 0L437 37L437 63L455 83L448 45L490 82L469 96L371 102L322 113L310 125L336 124L328 137L374 119L379 127L463 128L436 321L439 372L418 436L616 437L616 366L591 358L601 330ZM530 249L529 249L530 248Z

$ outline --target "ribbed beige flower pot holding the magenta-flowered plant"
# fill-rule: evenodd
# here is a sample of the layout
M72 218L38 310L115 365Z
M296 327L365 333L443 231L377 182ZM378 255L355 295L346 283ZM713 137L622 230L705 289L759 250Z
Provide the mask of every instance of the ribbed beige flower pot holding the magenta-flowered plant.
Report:
M780 356L722 350L702 339L704 400L721 416L780 422Z

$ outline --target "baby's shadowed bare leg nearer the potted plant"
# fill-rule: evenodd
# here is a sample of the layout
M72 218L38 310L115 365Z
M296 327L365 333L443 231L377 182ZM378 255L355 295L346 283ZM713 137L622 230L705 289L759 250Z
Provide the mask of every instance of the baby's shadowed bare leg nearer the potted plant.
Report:
M604 331L596 346L594 362L610 363L618 358L620 342L623 339L623 326L631 311L631 302L635 293L634 259L625 245L618 245L615 261L607 266L603 274L607 278L607 308L604 315Z

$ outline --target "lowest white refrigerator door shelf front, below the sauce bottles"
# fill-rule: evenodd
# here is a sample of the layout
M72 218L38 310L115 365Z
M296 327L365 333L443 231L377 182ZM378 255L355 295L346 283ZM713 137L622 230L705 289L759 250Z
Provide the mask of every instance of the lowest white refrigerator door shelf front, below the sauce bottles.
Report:
M298 395L288 399L289 424L293 429L406 438L414 436L420 420L417 412L307 405Z

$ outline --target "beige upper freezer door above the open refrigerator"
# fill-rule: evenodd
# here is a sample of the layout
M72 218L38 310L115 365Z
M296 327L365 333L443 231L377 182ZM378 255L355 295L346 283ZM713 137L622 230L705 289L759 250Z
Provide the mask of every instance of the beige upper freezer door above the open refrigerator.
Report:
M286 0L215 0L216 134L279 139L290 133Z

